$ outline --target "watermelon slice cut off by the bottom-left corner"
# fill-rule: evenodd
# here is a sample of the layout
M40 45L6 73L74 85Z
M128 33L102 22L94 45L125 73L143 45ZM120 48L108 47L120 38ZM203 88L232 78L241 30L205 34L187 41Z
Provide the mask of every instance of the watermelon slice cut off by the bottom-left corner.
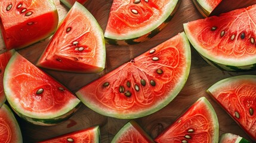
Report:
M0 108L0 136L0 142L22 142L20 126L6 104Z

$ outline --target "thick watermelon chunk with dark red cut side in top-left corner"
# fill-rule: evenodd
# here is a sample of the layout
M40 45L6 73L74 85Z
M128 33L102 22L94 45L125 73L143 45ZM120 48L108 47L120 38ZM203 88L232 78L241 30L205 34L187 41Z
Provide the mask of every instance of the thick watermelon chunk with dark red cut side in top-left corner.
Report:
M53 0L0 1L0 26L6 49L20 49L53 35L58 13Z

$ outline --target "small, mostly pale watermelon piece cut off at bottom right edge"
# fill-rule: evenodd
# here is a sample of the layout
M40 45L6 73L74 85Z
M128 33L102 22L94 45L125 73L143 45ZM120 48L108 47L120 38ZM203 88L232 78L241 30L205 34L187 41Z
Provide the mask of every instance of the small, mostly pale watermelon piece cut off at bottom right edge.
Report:
M223 133L219 143L250 143L247 139L233 133Z

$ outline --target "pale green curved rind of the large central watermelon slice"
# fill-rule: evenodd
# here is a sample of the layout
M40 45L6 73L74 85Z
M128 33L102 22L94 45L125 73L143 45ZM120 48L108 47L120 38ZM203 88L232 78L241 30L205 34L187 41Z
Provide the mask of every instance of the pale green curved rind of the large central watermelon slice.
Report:
M176 84L176 88L173 89L172 92L170 92L169 94L166 94L166 98L165 100L162 100L161 104L157 104L152 106L150 109L147 108L147 110L141 110L140 112L136 112L136 113L129 113L129 114L118 114L115 112L110 112L108 110L104 110L104 109L100 109L98 108L97 105L92 104L90 102L90 100L85 100L83 97L83 94L80 93L79 91L76 92L76 96L79 98L79 100L81 100L88 108L91 108L91 110L96 111L99 114L103 114L104 116L109 116L109 117L115 117L118 119L135 119L138 117L143 117L143 116L147 116L149 114L155 113L156 111L161 110L161 108L164 108L166 105L169 104L169 102L171 102L181 91L181 89L183 89L184 85L186 84L186 81L189 77L189 72L190 72L190 66L191 66L191 51L190 51L190 45L189 45L189 40L186 37L186 34L184 32L180 33L180 35L183 38L183 47L184 47L184 51L186 51L186 53L184 53L184 57L186 57L186 67L184 67L184 73L181 73L181 77L180 77L180 81L177 82ZM167 96L168 95L168 96Z

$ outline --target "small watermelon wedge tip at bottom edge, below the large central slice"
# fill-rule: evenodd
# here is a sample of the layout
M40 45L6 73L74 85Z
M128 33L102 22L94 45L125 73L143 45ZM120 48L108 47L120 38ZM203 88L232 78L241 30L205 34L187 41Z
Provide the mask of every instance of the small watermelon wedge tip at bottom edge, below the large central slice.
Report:
M122 143L122 142L151 142L153 139L136 123L134 120L129 121L125 124L118 133L114 136L111 143Z

